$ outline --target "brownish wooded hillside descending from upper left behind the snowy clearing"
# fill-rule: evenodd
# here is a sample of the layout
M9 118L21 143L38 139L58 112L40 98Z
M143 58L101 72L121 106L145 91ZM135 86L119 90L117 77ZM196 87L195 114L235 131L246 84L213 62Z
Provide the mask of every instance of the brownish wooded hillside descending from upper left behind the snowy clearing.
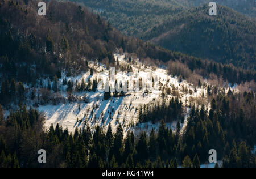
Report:
M112 54L117 48L155 65L179 61L186 73L180 73L179 65L175 65L175 69L172 66L171 73L185 79L192 73L208 78L214 73L230 83L256 80L254 71L186 56L122 36L100 16L74 3L50 1L48 13L42 17L35 15L36 1L26 2L28 5L20 1L1 2L2 80L7 78L10 82L14 78L33 84L38 76L60 78L61 70L76 75L88 70L86 60L98 58L107 66L113 63Z

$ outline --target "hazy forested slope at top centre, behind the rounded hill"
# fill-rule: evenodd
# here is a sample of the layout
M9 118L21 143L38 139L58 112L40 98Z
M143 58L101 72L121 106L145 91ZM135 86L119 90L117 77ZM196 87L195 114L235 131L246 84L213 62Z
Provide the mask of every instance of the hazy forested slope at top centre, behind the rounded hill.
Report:
M66 0L65 0L66 1ZM154 27L172 14L184 9L180 1L162 0L69 0L84 3L101 14L114 27L118 28L124 35L143 36L143 32ZM184 3L184 2L183 2Z

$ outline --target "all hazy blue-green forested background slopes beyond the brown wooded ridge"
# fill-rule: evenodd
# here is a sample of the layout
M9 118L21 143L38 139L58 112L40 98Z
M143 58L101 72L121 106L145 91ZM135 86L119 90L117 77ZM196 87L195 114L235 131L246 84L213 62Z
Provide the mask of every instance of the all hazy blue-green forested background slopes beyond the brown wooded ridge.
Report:
M76 1L77 2L77 1ZM255 70L255 1L217 1L217 17L209 17L209 1L83 1L129 36L150 40L170 50ZM200 6L198 8L191 8ZM182 27L182 28L181 28ZM194 40L195 39L195 40ZM251 66L251 64L253 64Z

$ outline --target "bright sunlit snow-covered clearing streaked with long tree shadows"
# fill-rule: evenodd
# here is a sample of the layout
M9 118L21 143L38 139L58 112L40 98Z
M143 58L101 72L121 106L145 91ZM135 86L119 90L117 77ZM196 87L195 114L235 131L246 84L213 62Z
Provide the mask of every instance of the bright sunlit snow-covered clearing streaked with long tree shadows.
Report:
M118 59L121 65L131 65L126 61L125 55L115 54L115 59ZM66 77L65 73L63 73L62 79L59 80L59 84L63 82L64 78L66 78L67 81L73 80L75 83L76 80L81 82L82 78L87 82L89 78L93 80L96 77L101 79L105 84L110 72L109 70L106 70L105 65L97 62L90 62L89 65L90 67L93 67L95 71L93 75L90 75L88 72L74 77ZM147 67L139 62L135 65L131 65L131 67L133 68L132 75L122 71L117 71L115 79L117 79L118 82L122 80L123 84L126 80L131 80L131 82L129 82L129 86L133 88L134 81L137 82L139 79L142 79L143 82L148 84L148 86L152 86L152 79L148 78L152 77L154 78L155 83L158 81L157 84L159 84L160 88L169 87L172 91L175 90L179 93L179 99L183 101L184 109L186 111L185 122L184 124L181 124L181 127L183 127L183 129L181 129L181 133L187 123L189 108L186 106L189 105L189 102L192 104L203 103L209 108L206 87L197 88L197 90L195 90L192 84L189 84L185 80L183 82L179 82L177 77L174 78L168 75L166 70ZM44 81L43 84L46 86L47 82ZM67 97L67 93L65 92L66 87L60 87L60 93L63 97ZM151 101L160 99L159 96L162 93L162 89L160 88L153 88L149 93L144 93L143 91L127 92L124 97L112 97L112 99L109 100L103 100L104 92L80 92L75 93L75 95L80 97L85 94L88 95L86 97L88 99L88 103L84 103L82 101L71 104L41 105L38 109L40 112L44 112L46 114L46 127L51 126L52 123L53 125L59 123L59 125L62 125L63 127L68 127L71 132L75 131L76 127L82 129L82 127L87 124L92 128L99 125L104 127L105 130L108 125L112 125L112 129L115 131L119 123L123 126L125 134L132 128L134 132L138 133L141 130L149 131L152 127L157 130L159 123L155 125L152 123L143 123L138 126L136 126L136 124L138 122L139 106L141 104L148 104L151 103ZM173 96L174 95L172 93L170 95L166 95L166 99L170 99ZM176 122L177 121L167 123L166 126L171 127L172 130L175 131Z

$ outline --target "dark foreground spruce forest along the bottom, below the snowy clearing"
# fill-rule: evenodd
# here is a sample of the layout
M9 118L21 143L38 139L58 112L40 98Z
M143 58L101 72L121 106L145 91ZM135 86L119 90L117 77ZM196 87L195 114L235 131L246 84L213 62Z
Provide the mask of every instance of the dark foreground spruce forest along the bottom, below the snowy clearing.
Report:
M151 130L149 135L142 132L137 137L129 132L124 138L121 124L116 133L110 126L105 132L99 126L92 131L87 125L82 130L76 128L71 134L58 124L43 130L43 121L42 114L32 108L27 110L26 106L10 112L5 120L0 106L1 167L199 168L208 159L205 157L208 151L204 150L209 149L200 146L200 142L195 155L195 147L188 151L192 141L195 142L189 140L192 132L185 134L187 140L181 142L179 135L165 127L164 122L158 131ZM201 136L200 131L205 131L202 124L197 127L196 137ZM208 142L206 138L204 142ZM47 152L45 164L38 163L37 152L41 148ZM255 167L255 155L251 154L251 148L245 142L233 142L225 151L229 155L224 158L223 166L216 164L216 167ZM218 154L218 159L220 157Z

